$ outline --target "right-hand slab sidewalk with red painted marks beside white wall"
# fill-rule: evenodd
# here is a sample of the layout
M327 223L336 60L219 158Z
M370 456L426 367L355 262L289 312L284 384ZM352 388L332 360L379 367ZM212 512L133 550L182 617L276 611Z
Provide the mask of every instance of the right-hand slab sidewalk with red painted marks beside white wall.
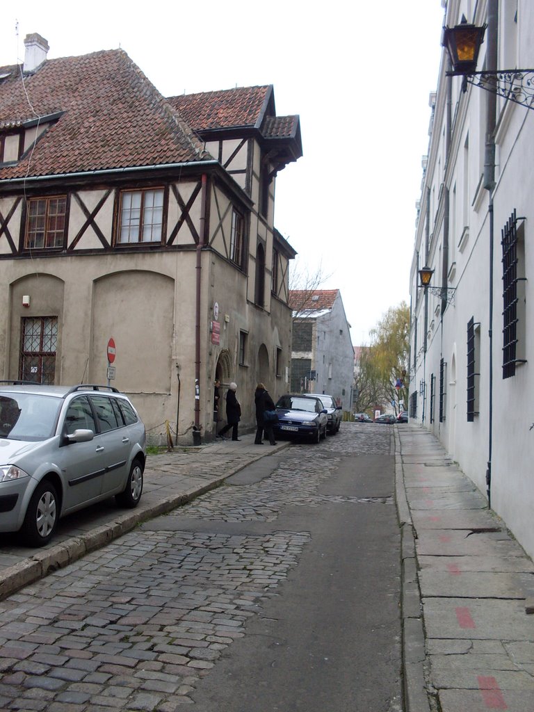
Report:
M419 426L395 429L406 712L534 711L534 566Z

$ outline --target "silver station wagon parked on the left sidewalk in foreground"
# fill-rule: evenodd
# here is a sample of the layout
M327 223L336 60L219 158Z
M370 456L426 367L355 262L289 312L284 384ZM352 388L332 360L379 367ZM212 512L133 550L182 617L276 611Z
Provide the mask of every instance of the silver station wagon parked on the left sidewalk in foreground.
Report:
M0 532L42 546L59 518L140 501L145 426L116 388L0 384Z

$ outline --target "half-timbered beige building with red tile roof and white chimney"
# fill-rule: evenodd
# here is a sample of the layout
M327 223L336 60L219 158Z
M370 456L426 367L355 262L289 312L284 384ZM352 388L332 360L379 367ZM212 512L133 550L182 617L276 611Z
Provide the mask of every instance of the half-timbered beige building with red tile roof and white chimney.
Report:
M112 339L152 441L213 436L216 378L252 426L256 381L288 387L274 184L298 116L270 85L167 99L122 50L25 44L0 68L1 377L106 382Z

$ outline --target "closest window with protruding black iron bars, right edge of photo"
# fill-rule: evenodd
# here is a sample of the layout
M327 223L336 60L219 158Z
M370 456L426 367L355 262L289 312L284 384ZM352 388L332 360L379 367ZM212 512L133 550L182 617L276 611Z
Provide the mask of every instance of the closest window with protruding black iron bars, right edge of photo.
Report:
M515 365L525 363L524 240L518 238L515 209L501 230L503 248L503 379L515 376ZM523 227L523 226L522 226Z

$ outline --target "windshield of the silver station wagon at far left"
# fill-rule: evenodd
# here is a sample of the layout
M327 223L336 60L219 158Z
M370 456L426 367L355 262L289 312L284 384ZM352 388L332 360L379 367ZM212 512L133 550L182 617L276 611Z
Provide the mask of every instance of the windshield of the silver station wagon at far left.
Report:
M63 399L38 393L0 394L0 438L46 440L56 431Z

